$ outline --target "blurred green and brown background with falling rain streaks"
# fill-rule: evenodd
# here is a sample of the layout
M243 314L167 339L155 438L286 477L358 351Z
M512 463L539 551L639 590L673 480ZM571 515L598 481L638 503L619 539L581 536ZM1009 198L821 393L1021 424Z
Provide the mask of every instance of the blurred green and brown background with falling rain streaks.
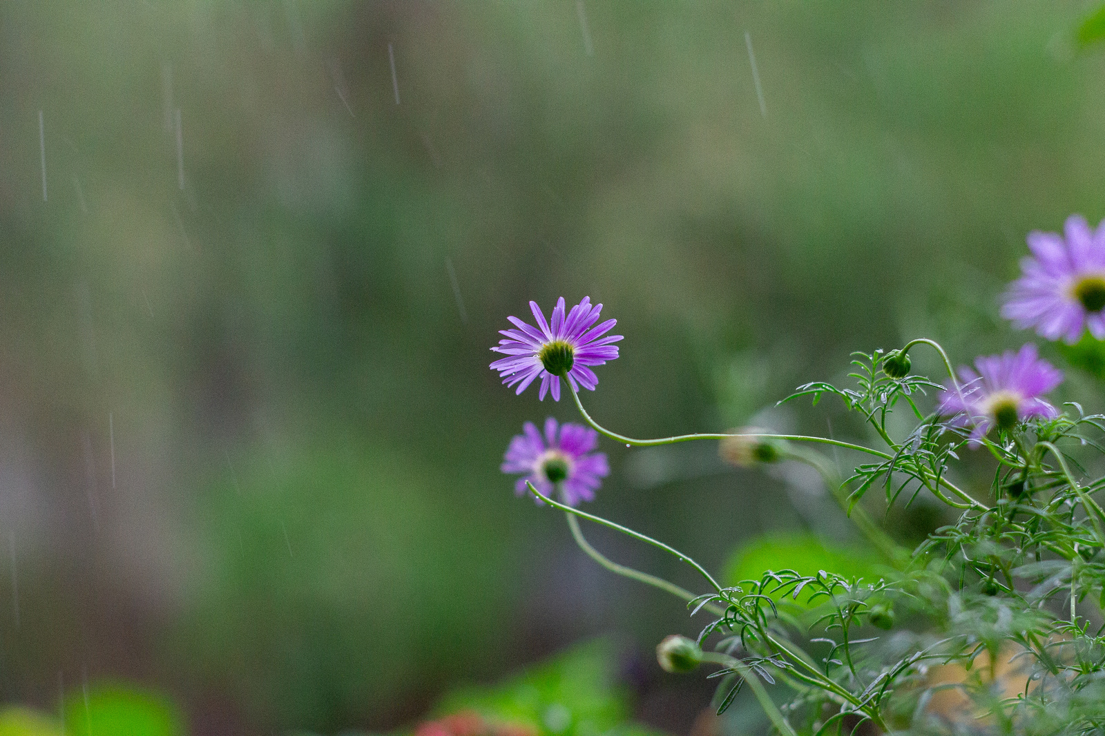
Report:
M1020 345L1025 232L1105 215L1093 7L0 3L0 695L389 729L606 633L636 717L685 733L708 684L649 652L697 624L498 472L575 413L498 385L496 330L604 303L586 400L630 434L859 437L761 410L854 349ZM765 530L849 543L792 469L602 449L592 508L713 569Z

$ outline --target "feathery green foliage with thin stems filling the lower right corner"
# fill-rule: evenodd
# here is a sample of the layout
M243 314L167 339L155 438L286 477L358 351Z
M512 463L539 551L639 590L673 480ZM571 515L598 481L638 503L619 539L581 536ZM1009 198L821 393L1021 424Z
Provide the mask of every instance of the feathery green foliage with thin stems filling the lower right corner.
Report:
M1105 417L1072 403L1057 419L972 440L994 465L979 500L950 479L969 428L915 401L939 385L880 374L877 351L853 365L857 388L818 382L794 395L840 397L885 441L886 460L844 482L852 507L878 481L887 504L908 490L960 515L897 568L855 577L774 568L692 601L695 613L714 614L698 641L720 637L714 661L725 664L711 675L725 679L719 709L753 677L789 685L781 713L798 733L864 722L1032 736L1105 728L1105 512L1093 500L1105 477L1087 479L1082 465L1102 465ZM903 440L887 430L897 403L917 420ZM954 697L939 695L949 688Z

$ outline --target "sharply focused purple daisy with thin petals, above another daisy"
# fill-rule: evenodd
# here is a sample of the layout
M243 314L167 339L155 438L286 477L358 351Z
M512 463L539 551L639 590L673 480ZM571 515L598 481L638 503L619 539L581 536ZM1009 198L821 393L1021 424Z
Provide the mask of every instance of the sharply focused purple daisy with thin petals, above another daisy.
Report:
M537 327L527 325L517 317L507 317L517 329L498 330L506 339L499 340L492 350L504 353L507 357L491 364L492 370L497 370L507 386L517 383L515 393L522 393L534 379L540 377L541 390L538 398L543 401L550 390L552 399L560 400L560 376L567 376L568 382L577 391L580 386L593 391L599 378L588 366L601 366L618 357L618 346L612 343L617 343L622 336L603 337L618 320L607 319L594 325L599 320L602 305L591 305L589 296L571 307L567 315L564 297L557 299L551 325L545 320L545 314L537 302L530 302L529 308L537 320Z

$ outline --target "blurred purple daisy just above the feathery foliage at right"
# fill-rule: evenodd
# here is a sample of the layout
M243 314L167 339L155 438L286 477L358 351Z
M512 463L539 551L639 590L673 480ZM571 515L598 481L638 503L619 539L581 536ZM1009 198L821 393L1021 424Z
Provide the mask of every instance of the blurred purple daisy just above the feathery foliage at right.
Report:
M959 427L974 427L970 437L976 443L994 424L1011 429L1032 417L1059 416L1055 407L1039 397L1062 383L1063 372L1041 360L1035 345L976 358L975 367L977 372L967 366L959 369L962 385L945 389L939 412L955 416L953 423Z

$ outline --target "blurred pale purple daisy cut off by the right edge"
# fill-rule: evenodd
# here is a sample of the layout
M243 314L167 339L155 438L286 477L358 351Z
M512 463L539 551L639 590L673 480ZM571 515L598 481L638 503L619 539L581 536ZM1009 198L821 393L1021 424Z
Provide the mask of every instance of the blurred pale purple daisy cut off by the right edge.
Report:
M1050 340L1077 343L1086 327L1105 339L1105 220L1095 231L1072 214L1064 230L1065 240L1054 232L1029 233L1032 255L1021 261L1023 275L1010 284L1001 316Z

